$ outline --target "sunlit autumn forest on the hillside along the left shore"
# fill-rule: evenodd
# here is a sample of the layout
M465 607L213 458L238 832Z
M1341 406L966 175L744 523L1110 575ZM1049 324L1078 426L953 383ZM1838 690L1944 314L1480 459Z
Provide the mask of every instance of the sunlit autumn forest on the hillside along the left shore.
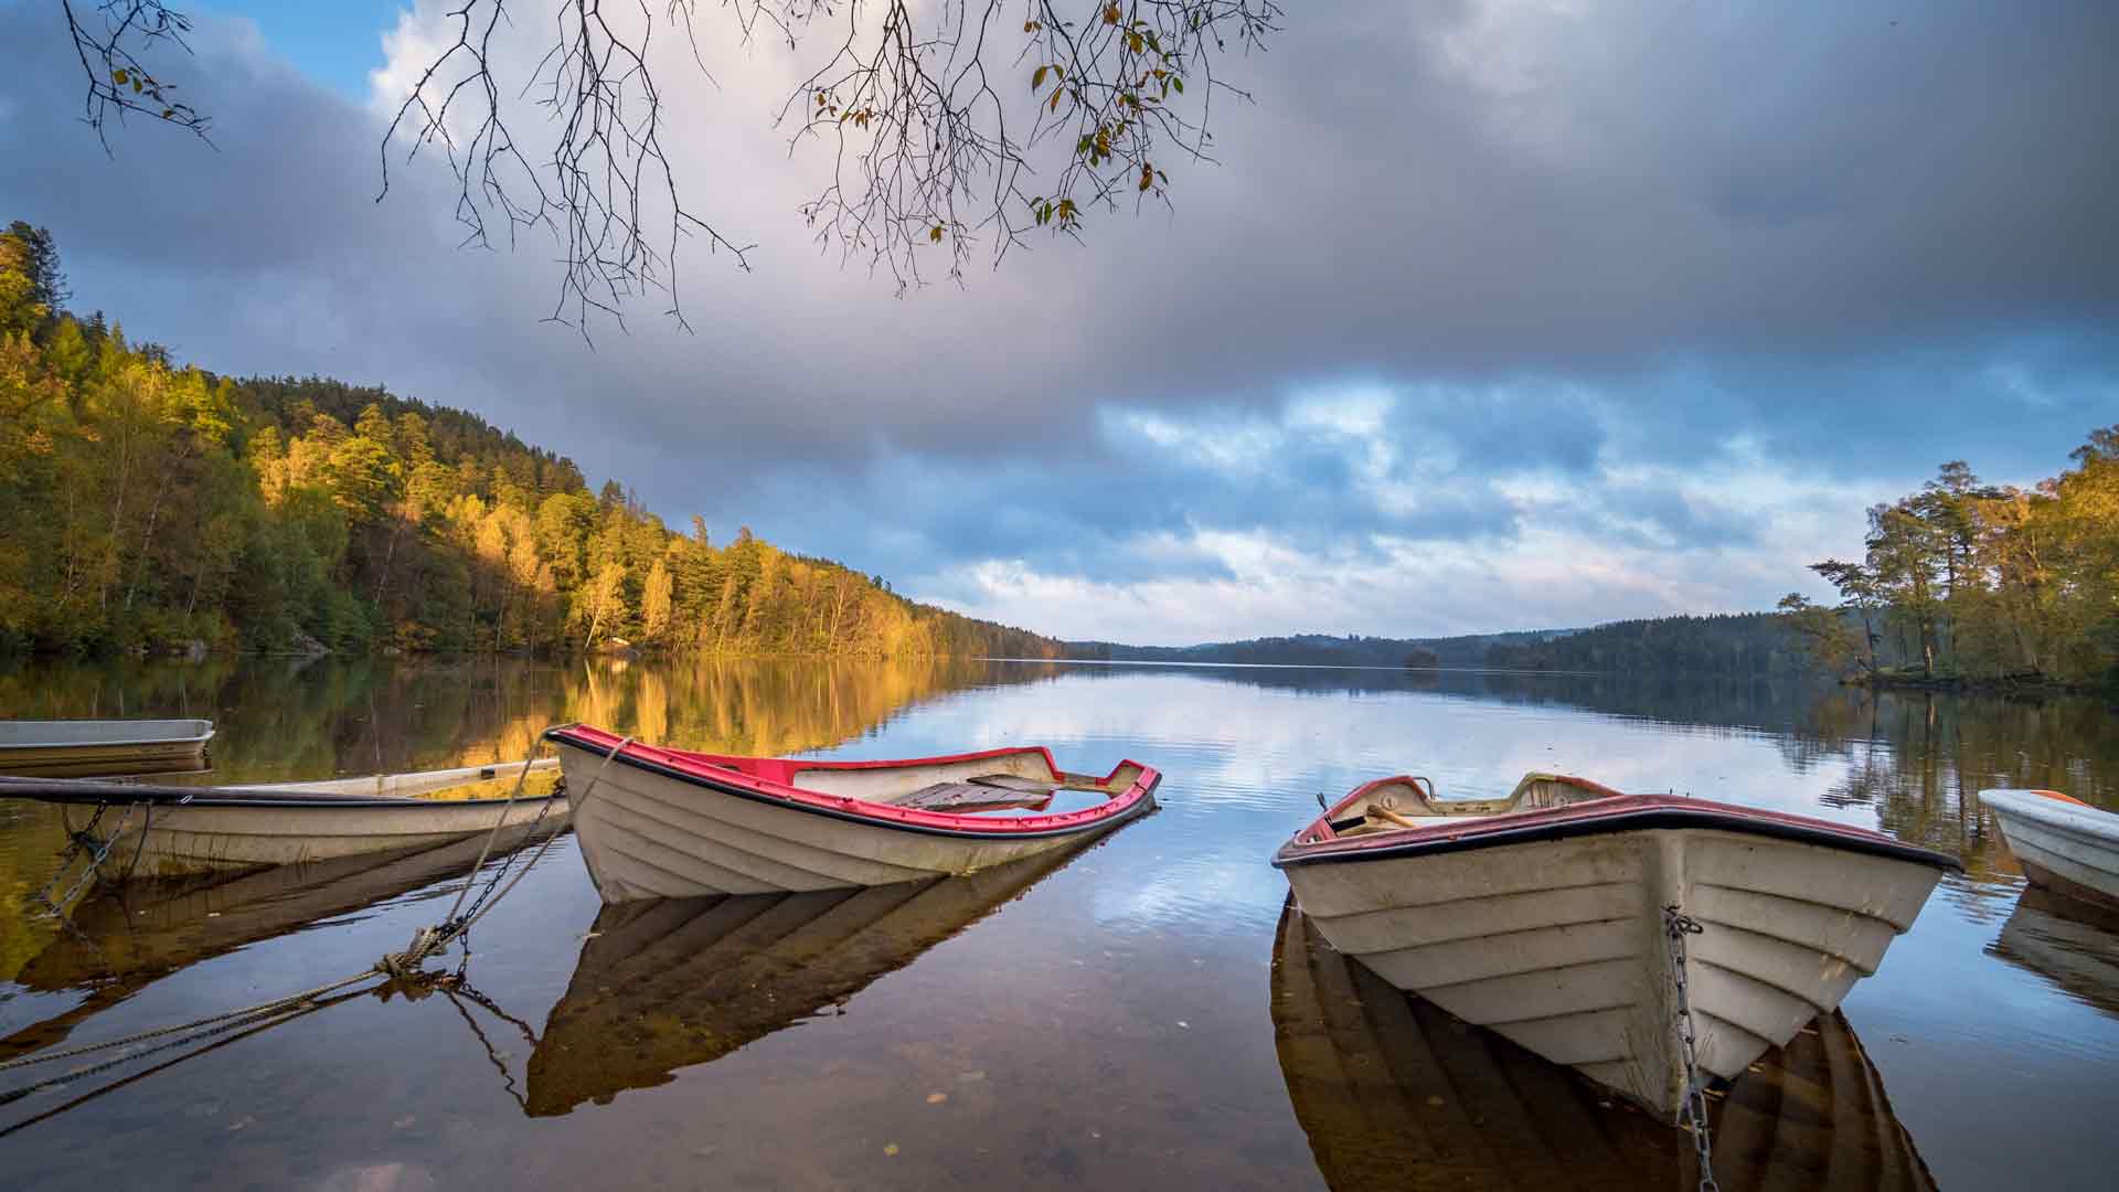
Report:
M178 365L68 297L47 231L0 231L0 653L1060 653L748 528L676 532L473 414Z

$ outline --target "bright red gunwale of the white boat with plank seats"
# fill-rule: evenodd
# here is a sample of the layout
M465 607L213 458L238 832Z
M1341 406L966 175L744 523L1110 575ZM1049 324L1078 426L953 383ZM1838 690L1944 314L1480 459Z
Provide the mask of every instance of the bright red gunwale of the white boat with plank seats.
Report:
M657 744L642 744L638 740L627 742L612 732L593 725L559 725L545 730L545 740L568 744L598 757L612 757L623 761L634 770L644 770L648 774L659 774L691 787L701 787L723 795L733 795L740 800L750 800L767 806L801 810L809 814L822 814L831 819L841 819L848 823L860 823L867 827L884 827L892 831L913 831L922 836L949 836L958 840L1040 840L1053 836L1081 836L1087 831L1098 831L1112 827L1155 808L1155 789L1161 785L1163 774L1153 766L1142 766L1140 761L1119 761L1110 768L1102 781L1110 783L1127 766L1138 770L1134 783L1108 795L1102 804L1062 812L1062 814L1038 814L1038 817L1013 817L1013 819L983 819L977 814L951 814L922 808L901 808L892 804L879 804L873 800L860 800L854 795L826 795L818 791L807 791L790 783L780 783L761 774L746 774L727 761L771 761L788 770L888 770L905 766L937 766L951 761L981 761L987 757L1011 757L1021 753L1038 753L1051 772L1066 774L1060 764L1053 761L1051 749L1043 744L1023 744L1009 749L983 749L973 753L949 753L939 757L901 757L901 759L875 759L875 761L812 761L812 759L780 759L780 757L735 757L735 755L714 755L714 753L693 753L684 749L663 749ZM623 749L619 749L623 744ZM648 753L667 757L670 761L659 761L648 757Z

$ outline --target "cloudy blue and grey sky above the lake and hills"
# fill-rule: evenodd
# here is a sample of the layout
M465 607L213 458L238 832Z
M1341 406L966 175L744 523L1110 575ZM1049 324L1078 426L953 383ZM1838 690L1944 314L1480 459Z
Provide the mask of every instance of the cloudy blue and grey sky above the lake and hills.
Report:
M163 76L214 148L104 153L57 4L0 0L0 218L182 361L475 409L674 526L1066 638L1769 609L1943 460L2032 484L2119 422L2102 0L1295 0L1172 210L903 297L797 212L805 53L706 4L670 153L750 269L687 252L691 331L646 301L593 348L549 244L458 246L430 157L377 201L445 11L193 8Z

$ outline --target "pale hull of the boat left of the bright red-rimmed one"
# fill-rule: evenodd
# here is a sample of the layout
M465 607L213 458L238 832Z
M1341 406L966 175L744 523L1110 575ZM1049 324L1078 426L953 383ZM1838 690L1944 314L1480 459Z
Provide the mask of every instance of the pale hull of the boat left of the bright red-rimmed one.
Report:
M551 770L557 761L534 766ZM515 806L504 797L409 797L506 772L506 766L468 766L259 787L6 781L0 795L59 802L68 834L87 831L100 840L117 834L104 861L106 876L172 878L432 848L492 831L496 823L511 831L566 823L566 795L523 797Z

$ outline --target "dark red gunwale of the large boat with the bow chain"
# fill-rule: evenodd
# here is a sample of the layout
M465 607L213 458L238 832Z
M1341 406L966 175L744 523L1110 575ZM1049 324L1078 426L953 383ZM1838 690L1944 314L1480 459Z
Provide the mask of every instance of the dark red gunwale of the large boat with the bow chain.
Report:
M1274 867L1432 857L1615 831L1712 829L1846 848L1939 870L1964 870L1956 857L1905 844L1867 827L1678 795L1610 795L1560 808L1494 814L1466 823L1399 827L1371 836L1305 842L1303 836L1310 836L1326 819L1320 817L1282 844L1274 853Z

